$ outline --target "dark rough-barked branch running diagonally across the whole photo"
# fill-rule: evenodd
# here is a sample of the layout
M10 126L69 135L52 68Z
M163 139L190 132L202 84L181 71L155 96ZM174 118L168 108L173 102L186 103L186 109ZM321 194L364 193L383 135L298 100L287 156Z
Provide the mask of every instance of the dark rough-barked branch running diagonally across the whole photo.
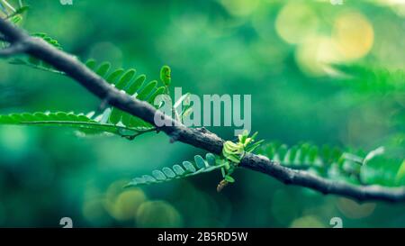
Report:
M157 127L158 131L165 132L170 136L171 141L182 141L202 150L215 154L221 154L223 140L216 134L204 128L187 128L183 124L175 122L152 105L134 99L129 95L121 93L112 87L102 77L96 75L92 70L86 68L75 57L55 49L46 41L30 37L26 32L14 27L13 24L0 19L0 32L13 45L23 45L23 51L37 59L41 59L68 77L75 79L88 91L106 101L109 105L117 107L131 115L156 125L155 116L166 122L165 126ZM21 50L20 50L21 51ZM301 170L288 169L279 163L267 159L264 156L248 153L241 160L240 167L256 170L276 178L284 184L291 184L301 187L309 187L318 190L323 194L335 194L347 196L359 201L383 200L391 202L405 201L405 187L380 187L380 186L356 186L343 182L332 181L320 178Z

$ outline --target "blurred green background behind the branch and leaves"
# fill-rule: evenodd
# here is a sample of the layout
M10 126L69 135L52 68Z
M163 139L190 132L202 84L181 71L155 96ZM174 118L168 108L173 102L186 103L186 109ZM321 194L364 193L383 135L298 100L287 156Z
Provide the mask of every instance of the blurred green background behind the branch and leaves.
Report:
M13 2L13 1L10 1ZM15 1L17 2L17 1ZM26 1L23 28L47 32L80 59L172 68L184 92L252 95L252 131L263 139L373 150L402 136L387 121L405 94L337 83L332 63L404 68L403 1ZM99 101L67 77L0 63L0 113L93 111ZM233 139L232 128L210 128ZM165 134L77 137L68 129L0 127L0 226L344 227L405 226L405 204L365 203L287 187L238 169L122 190L130 178L193 159L201 150ZM403 149L397 150L403 159Z

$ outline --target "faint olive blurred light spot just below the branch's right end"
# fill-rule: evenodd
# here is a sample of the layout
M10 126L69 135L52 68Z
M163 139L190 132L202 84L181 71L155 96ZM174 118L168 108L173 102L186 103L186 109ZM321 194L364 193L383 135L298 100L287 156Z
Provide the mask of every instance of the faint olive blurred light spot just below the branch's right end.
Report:
M358 204L343 197L338 199L338 209L351 219L360 219L373 214L375 206L374 203Z

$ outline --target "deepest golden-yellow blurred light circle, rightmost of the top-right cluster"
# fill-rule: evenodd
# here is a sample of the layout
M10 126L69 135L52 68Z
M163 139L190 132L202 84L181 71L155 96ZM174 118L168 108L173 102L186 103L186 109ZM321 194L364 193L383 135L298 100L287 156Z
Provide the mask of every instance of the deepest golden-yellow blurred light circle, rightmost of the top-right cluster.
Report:
M332 37L344 59L360 59L373 47L374 29L363 14L350 12L338 16Z

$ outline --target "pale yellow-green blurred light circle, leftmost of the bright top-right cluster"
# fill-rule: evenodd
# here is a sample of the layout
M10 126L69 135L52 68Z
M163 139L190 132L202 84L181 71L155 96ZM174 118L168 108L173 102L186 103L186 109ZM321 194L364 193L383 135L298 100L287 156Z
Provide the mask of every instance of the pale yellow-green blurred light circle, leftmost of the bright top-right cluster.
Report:
M300 43L318 32L319 20L310 6L291 2L283 7L275 20L278 35L289 43Z

